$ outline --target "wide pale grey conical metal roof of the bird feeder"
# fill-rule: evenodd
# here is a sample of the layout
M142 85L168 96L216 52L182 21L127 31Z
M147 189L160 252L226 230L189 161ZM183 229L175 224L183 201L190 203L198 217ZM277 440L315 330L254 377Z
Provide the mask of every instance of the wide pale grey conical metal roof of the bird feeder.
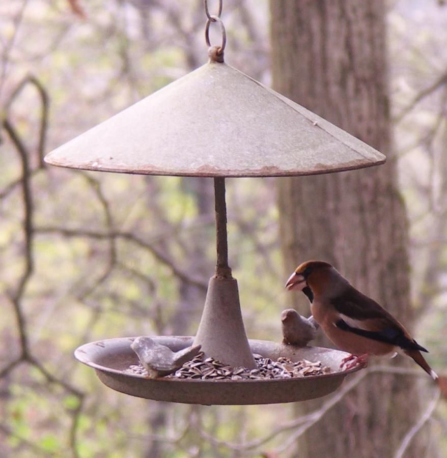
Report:
M385 156L235 68L210 62L45 161L132 174L277 177L368 167Z

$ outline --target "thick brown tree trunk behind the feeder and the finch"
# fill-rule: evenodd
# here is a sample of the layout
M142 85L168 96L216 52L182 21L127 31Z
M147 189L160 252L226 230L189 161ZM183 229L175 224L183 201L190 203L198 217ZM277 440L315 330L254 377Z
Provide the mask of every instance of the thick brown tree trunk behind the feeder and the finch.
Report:
M328 261L411 328L407 221L390 140L385 3L272 0L270 9L274 89L387 155L378 167L277 181L285 278L303 261ZM289 297L309 314L304 295ZM393 360L399 362L404 358ZM414 380L372 375L305 435L296 455L393 456L419 412ZM406 456L426 455L421 436Z

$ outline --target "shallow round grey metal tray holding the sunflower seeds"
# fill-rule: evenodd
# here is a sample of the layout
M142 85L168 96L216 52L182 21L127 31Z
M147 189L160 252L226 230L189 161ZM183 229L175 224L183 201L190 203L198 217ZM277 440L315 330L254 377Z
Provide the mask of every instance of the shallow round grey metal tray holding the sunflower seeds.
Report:
M192 345L193 337L151 337L173 351ZM360 367L339 371L348 353L315 347L293 347L267 340L249 340L253 353L276 360L285 356L292 361L307 359L321 361L333 372L319 376L271 380L195 380L159 377L149 379L127 374L138 358L130 348L135 337L101 340L76 349L74 355L96 370L101 382L109 388L132 396L165 402L203 405L291 403L325 396L336 390L346 375Z

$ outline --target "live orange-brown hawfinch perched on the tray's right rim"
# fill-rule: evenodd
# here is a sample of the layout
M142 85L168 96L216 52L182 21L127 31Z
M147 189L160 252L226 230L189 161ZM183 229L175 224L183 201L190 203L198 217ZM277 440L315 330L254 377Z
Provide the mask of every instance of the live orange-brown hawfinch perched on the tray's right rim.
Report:
M393 354L402 350L430 376L438 376L421 355L427 352L392 314L357 291L334 267L308 261L297 267L286 288L301 290L311 301L315 321L341 350L351 353L349 367L366 363L368 355ZM342 366L344 363L342 363Z

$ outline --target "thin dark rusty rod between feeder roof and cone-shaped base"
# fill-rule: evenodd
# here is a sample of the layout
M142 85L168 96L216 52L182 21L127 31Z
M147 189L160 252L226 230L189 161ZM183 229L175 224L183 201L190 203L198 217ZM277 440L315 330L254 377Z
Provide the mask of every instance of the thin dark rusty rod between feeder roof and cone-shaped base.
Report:
M225 203L225 178L214 178L214 198L216 210L217 264L215 278L233 278L228 266L227 206Z

